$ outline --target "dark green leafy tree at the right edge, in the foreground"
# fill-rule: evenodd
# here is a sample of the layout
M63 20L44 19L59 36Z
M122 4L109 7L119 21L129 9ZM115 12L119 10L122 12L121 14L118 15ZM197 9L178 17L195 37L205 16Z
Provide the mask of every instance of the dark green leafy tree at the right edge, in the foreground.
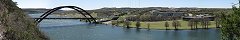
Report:
M240 3L240 1L239 1ZM240 6L239 6L240 7ZM235 5L229 14L221 14L221 39L240 40L240 8Z

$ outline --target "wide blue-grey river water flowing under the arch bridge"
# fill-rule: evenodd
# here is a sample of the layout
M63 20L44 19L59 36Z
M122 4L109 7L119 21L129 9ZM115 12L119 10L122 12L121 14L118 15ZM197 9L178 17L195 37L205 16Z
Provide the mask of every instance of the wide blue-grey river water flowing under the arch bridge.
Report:
M29 15L39 17L41 14ZM220 40L218 29L148 31L64 19L46 19L38 25L51 40Z

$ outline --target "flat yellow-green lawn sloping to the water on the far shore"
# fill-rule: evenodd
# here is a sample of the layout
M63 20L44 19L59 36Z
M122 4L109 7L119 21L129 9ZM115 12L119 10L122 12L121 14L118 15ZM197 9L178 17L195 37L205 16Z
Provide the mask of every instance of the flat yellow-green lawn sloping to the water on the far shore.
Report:
M166 27L164 26L166 21L158 21L158 22L141 22L141 28L147 28L147 23L150 24L150 29L166 29ZM172 26L172 21L168 21L169 22L169 27L168 29L174 29L174 27ZM179 20L179 22L181 23L181 26L178 27L178 29L191 29L191 27L188 26L188 22L187 21L181 21ZM130 27L136 27L136 22L131 22ZM122 26L123 24L120 24L120 26ZM202 28L202 26L200 24L198 24L198 28ZM209 28L215 28L215 23L214 21L210 22Z

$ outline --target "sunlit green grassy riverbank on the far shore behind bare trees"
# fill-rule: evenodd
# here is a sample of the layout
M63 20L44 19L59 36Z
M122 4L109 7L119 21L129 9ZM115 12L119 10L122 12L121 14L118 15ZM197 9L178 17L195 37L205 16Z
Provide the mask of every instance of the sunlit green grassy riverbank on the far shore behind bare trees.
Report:
M191 27L188 26L188 21L182 21L182 20L178 20L180 22L180 26L177 27L178 30L190 30ZM165 27L165 22L166 21L157 21L157 22L140 22L140 28L141 29L159 29L159 30L175 30L175 27L173 27L172 25L172 21L168 21L169 27ZM149 27L148 27L149 24ZM120 23L119 25L116 26L121 26L121 27L125 27L123 26L123 23ZM130 28L136 28L136 22L131 21L130 22ZM217 28L216 24L214 21L210 21L208 28ZM208 29L208 28L204 28L201 26L201 24L198 24L197 29Z

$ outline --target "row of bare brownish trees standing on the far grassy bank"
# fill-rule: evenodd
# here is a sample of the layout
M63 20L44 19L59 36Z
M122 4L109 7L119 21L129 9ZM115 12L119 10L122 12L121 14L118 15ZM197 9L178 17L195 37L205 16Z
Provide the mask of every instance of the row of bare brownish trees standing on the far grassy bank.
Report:
M139 28L141 28L141 25L147 25L147 28L150 29L150 26L151 26L149 23L140 23L141 22L140 20L136 20L136 21L117 20L117 21L112 21L112 22L113 22L112 25L119 25L120 23L123 23L123 26L127 27L127 28L130 28L131 27L130 25L136 25L136 28L139 29ZM135 22L135 24L134 24L134 22ZM175 30L178 30L179 27L182 26L181 23L182 22L180 22L180 20L170 18L169 20L164 21L164 27L166 28L166 30L168 30L168 28L170 26L174 27ZM184 25L189 26L192 30L199 29L199 28L208 29L209 25L212 25L210 22L210 19L204 18L204 17L191 19L191 20L187 21L186 23L187 24L184 24ZM216 28L219 28L219 21L216 21L215 25L216 25Z

